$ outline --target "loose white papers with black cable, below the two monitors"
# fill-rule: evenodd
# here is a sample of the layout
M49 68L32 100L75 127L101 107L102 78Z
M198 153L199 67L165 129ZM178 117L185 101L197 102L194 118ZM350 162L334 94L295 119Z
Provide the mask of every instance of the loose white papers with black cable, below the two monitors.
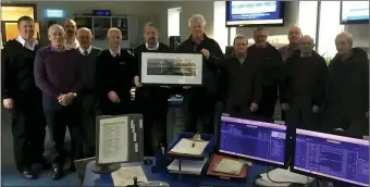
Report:
M259 186L289 186L294 184L309 184L313 182L312 177L292 173L288 170L275 169L267 173L260 174L260 178L256 179ZM278 183L274 183L278 182ZM286 183L284 183L286 182Z

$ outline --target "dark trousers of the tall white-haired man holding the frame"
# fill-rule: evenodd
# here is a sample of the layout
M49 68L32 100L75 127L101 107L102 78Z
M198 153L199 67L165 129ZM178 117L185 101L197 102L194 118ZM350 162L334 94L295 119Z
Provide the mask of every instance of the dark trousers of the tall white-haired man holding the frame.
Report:
M187 122L186 132L197 133L198 120L201 120L202 133L214 134L215 96L205 92L193 92L184 97Z

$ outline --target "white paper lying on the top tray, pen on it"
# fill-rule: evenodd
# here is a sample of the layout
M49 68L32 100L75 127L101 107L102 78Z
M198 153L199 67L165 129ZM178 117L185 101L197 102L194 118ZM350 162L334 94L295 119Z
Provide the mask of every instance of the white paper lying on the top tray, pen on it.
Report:
M178 154L201 155L208 141L182 138L170 151Z

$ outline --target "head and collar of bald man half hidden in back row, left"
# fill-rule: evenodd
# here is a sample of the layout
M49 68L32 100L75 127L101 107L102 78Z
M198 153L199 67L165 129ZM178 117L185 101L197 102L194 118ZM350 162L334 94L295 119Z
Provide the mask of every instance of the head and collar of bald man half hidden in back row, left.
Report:
M65 48L76 49L79 47L78 40L76 39L77 35L77 24L72 18L66 18L64 21L64 30L65 30Z

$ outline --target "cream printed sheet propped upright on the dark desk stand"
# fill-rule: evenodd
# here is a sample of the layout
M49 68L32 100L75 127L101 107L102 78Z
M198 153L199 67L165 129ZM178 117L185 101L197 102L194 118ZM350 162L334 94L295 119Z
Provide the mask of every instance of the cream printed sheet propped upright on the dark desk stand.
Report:
M126 162L128 160L128 117L100 120L99 125L98 163Z

